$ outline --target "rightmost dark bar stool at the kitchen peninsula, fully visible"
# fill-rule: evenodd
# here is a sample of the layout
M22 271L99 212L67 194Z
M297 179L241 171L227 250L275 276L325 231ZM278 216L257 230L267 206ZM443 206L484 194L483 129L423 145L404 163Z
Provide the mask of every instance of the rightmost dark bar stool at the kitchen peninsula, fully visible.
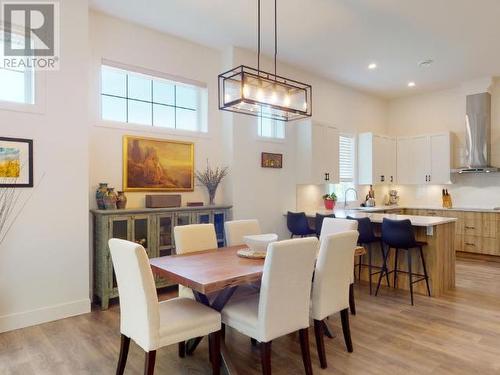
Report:
M427 275L427 268L425 267L425 259L423 247L427 245L426 242L420 242L415 240L415 234L413 233L413 228L411 226L411 221L406 220L391 220L384 219L382 221L382 241L387 245L387 252L384 254L384 265L382 268L382 272L380 273L377 290L375 291L375 295L378 294L378 290L380 288L380 282L382 280L382 276L389 275L390 273L394 273L394 287L397 287L398 273L406 273L408 274L408 285L410 287L410 297L411 304L413 306L413 284L425 280L427 286L427 294L429 297L431 296L431 289L429 287L429 277ZM392 271L387 270L387 259L389 258L389 252L391 248L396 249L396 254L394 257L394 269ZM406 256L408 261L408 270L403 271L398 269L398 254L399 250L406 250ZM424 270L424 274L414 273L412 271L412 251L419 250L420 259L422 259L422 267ZM418 254L418 253L417 253ZM413 280L413 277L418 277L416 280Z

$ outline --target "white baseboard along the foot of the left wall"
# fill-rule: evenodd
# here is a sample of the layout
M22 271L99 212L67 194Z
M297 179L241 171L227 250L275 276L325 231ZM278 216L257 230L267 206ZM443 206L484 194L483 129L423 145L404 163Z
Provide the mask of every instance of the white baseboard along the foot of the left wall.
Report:
M90 312L90 299L0 316L0 333Z

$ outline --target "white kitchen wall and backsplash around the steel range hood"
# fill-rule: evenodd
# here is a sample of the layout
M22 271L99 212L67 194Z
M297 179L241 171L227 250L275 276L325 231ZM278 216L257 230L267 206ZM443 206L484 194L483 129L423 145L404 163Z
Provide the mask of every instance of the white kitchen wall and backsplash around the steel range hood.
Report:
M484 80L482 80L484 82ZM481 83L481 82L479 82ZM395 135L452 132L453 166L464 165L465 96L475 82L429 94L394 99L389 103L388 130ZM483 84L486 89L486 84ZM475 90L476 91L476 90ZM500 165L500 82L493 81L491 163ZM441 189L452 194L456 207L500 206L500 174L454 175L448 186L397 186L401 203L441 205Z

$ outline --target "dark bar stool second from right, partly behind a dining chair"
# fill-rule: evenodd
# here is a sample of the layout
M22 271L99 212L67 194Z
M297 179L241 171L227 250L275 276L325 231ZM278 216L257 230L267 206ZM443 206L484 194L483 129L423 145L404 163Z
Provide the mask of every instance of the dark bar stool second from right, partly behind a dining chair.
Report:
M383 269L383 266L382 267L374 266L372 264L372 259L373 259L372 244L374 243L380 244L380 252L382 254L382 259L384 259L384 244L382 243L382 238L376 236L375 233L373 232L373 225L370 218L368 217L356 218L347 216L347 219L356 220L358 222L358 232L359 232L358 245L363 246L366 249L367 251L366 255L368 256L368 263L363 263L362 262L363 256L360 256L359 263L356 264L354 268L358 267L358 279L361 280L361 267L368 267L370 295L372 295L372 277L374 275L378 275L379 273L381 273ZM374 268L378 271L373 272ZM387 286L390 286L389 275L386 274L385 278L387 281Z

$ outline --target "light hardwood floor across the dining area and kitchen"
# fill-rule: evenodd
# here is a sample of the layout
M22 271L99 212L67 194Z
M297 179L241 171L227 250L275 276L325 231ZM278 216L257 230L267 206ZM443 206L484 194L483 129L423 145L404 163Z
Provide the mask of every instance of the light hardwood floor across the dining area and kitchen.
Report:
M170 294L163 294L168 298ZM500 263L457 262L457 288L444 297L381 289L370 297L356 287L357 316L351 316L354 353L337 334L325 339L329 368L321 370L312 329L316 374L500 374ZM259 374L259 350L230 329L226 341L241 374ZM119 349L119 309L92 313L0 335L0 374L114 374ZM298 337L273 343L274 374L303 374ZM161 349L155 374L209 374L206 340L195 355L180 359L177 346ZM141 374L143 352L130 348L125 374Z

